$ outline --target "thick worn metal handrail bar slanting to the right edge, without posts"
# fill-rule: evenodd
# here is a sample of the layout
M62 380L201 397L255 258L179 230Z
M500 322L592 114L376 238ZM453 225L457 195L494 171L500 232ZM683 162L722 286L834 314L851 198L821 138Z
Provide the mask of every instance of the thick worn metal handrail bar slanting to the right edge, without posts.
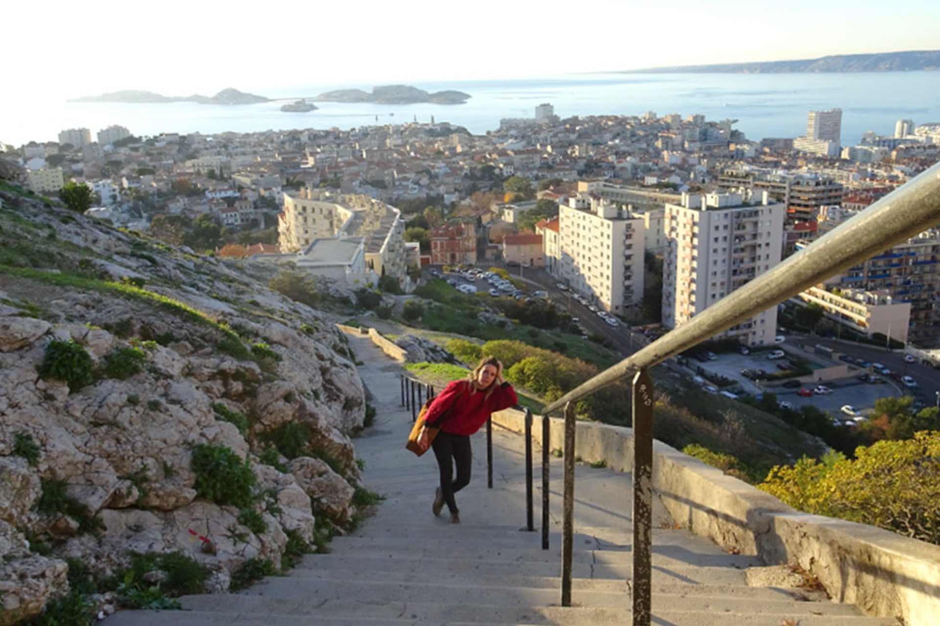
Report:
M940 163L542 410L546 415L553 413L661 363L937 223L940 223Z

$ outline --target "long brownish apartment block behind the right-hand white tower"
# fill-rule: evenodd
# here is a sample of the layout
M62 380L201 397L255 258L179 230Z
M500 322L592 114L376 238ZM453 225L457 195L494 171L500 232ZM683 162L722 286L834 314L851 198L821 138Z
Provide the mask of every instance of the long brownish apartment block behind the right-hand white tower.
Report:
M718 176L718 191L767 191L771 201L787 207L788 221L815 220L821 206L838 205L845 189L832 178L750 166L726 169Z

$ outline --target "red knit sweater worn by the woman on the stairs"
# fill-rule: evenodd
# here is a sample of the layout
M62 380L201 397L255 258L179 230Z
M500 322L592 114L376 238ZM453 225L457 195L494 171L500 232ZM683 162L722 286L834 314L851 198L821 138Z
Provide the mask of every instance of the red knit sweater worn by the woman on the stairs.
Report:
M509 383L497 385L488 397L485 391L478 391L466 380L455 380L447 383L444 390L437 394L424 415L424 421L432 426L439 425L446 433L473 435L494 411L501 411L518 402L516 391ZM445 412L445 420L435 424Z

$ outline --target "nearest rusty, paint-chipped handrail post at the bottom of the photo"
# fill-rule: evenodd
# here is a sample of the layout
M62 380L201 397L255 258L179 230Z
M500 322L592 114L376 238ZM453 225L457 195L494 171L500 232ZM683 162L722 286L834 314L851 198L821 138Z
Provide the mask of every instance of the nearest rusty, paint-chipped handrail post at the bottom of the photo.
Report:
M652 378L634 376L634 588L633 626L650 626L652 574Z

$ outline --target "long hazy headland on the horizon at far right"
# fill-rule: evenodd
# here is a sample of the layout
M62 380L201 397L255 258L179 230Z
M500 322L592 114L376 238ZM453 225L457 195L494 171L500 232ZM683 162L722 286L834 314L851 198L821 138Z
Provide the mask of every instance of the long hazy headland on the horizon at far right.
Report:
M900 53L833 54L818 59L758 61L718 65L687 65L668 68L624 70L621 73L732 73L780 74L830 71L925 71L940 69L940 50L914 50Z

